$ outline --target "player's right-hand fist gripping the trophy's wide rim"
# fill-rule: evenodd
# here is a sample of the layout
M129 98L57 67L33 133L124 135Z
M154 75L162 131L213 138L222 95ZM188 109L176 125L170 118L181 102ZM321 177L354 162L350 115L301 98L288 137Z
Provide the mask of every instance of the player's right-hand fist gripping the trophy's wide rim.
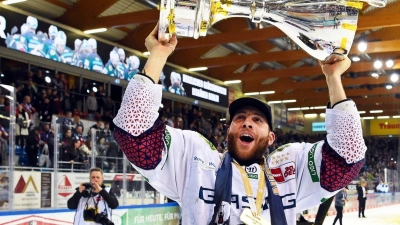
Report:
M324 62L319 61L322 68L322 72L326 78L340 77L351 64L350 59L347 56L332 54Z

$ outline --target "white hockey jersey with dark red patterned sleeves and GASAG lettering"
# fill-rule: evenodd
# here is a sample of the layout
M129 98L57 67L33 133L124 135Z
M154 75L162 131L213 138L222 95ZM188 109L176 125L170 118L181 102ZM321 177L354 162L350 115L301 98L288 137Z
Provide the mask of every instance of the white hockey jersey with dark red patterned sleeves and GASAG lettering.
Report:
M132 165L148 182L182 207L182 224L209 224L214 214L214 185L221 154L203 136L157 122L162 86L136 75L126 90L114 137ZM358 175L366 146L360 118L351 100L326 111L327 138L318 143L293 143L271 153L267 164L277 182L288 225L296 212L320 204ZM260 166L245 168L257 193ZM232 166L231 203L223 202L217 216L243 224L249 207L239 170ZM267 189L266 189L267 190ZM270 221L266 191L261 216ZM272 193L273 194L273 193Z

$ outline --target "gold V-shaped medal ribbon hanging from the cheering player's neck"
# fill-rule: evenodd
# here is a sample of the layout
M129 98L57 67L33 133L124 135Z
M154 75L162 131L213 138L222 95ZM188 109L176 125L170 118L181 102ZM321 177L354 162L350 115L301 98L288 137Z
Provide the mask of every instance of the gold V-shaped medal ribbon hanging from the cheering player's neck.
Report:
M256 202L254 202L253 190L251 188L250 180L247 176L246 171L237 162L234 161L233 164L240 171L240 175L242 177L243 184L244 184L244 189L245 189L246 195L247 195L247 200L249 201L249 204L250 204L250 210L253 213L253 216L258 217L258 216L260 216L260 213L261 213L261 205L264 200L264 194L265 194L266 183L265 183L265 176L263 174L264 171L261 169L261 166L260 166L257 197L256 197Z

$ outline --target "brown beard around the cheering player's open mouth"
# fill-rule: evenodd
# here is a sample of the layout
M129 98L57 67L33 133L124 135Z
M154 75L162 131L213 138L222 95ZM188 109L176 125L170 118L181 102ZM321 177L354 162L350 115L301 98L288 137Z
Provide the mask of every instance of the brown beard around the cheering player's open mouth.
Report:
M254 140L255 142L255 140ZM269 137L263 137L258 143L255 143L254 147L248 152L240 152L237 146L237 138L235 135L228 134L228 152L232 158L240 161L253 161L260 160L264 154L268 151Z

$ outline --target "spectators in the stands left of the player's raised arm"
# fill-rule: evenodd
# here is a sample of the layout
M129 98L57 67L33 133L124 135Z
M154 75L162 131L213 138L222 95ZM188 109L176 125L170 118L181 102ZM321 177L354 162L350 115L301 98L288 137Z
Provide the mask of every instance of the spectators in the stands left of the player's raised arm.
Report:
M36 74L29 72L26 77L16 79L2 79L3 84L15 87L16 93L16 128L15 144L23 149L19 157L20 165L37 167L42 166L38 160L43 149L48 149L48 158L51 166L54 159L54 144L59 143L59 160L69 162L58 165L60 168L88 168L91 156L91 130L96 130L95 156L121 157L118 146L113 143L111 130L115 113L115 104L102 86L97 87L95 93L85 83L79 90L69 89L68 80L64 74L56 73L53 77L43 76L41 70ZM10 99L0 93L0 129L3 140L9 129ZM51 126L53 115L60 120L59 137L54 137L54 127ZM84 127L81 119L96 121L92 127ZM55 140L57 138L57 140ZM4 143L4 141L3 141ZM4 145L3 145L4 146ZM4 164L4 154L0 155L0 165ZM104 160L103 160L104 161ZM115 170L115 159L104 162L107 169ZM75 164L75 165L72 165ZM103 165L103 166L104 166ZM47 165L49 166L49 165Z

